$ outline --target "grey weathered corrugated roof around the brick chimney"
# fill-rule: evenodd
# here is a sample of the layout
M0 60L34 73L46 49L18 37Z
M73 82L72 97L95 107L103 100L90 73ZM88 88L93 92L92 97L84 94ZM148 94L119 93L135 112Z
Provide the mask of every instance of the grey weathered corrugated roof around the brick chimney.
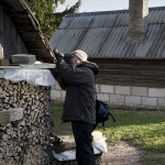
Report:
M92 58L165 58L165 7L150 8L146 37L129 43L129 11L68 14L51 38L64 53L84 50Z

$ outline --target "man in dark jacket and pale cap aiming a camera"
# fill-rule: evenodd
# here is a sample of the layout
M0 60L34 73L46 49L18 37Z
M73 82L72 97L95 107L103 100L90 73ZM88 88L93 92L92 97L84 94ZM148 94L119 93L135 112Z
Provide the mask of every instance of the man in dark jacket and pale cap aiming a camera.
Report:
M96 165L91 132L96 124L95 75L98 66L87 61L84 51L70 54L69 64L56 55L57 70L66 85L62 120L72 122L78 165Z

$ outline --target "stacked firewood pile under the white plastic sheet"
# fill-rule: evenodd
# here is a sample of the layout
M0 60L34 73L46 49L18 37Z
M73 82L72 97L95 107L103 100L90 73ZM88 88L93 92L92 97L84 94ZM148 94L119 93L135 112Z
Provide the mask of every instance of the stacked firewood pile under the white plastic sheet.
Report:
M0 165L50 165L51 133L50 87L0 79Z

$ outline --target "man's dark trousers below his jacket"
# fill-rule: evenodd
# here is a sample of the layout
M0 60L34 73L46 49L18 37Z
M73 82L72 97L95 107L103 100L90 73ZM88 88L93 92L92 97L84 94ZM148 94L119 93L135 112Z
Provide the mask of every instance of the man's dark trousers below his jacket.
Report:
M95 124L72 121L73 133L76 142L76 160L78 165L96 165L96 158L92 148L91 132Z

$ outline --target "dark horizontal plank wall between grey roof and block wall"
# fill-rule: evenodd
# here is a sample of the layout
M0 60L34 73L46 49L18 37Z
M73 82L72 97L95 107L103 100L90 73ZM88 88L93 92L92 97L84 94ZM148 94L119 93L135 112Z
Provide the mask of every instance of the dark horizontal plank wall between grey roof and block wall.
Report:
M91 59L100 74L97 84L165 87L165 59Z

